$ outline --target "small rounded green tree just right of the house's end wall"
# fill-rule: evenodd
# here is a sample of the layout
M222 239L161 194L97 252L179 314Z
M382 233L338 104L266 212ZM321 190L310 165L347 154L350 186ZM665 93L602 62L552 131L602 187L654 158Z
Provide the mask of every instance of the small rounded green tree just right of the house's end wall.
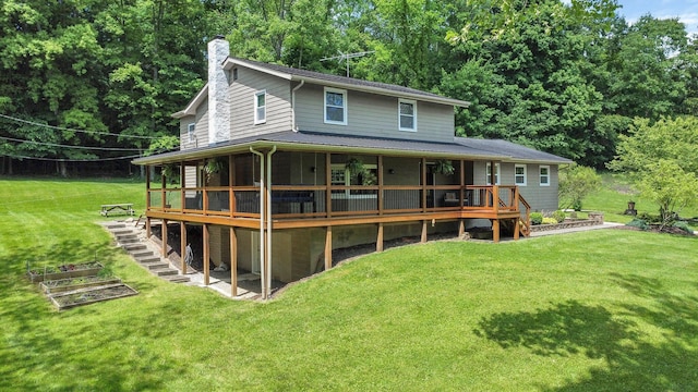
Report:
M573 164L559 171L557 193L563 208L581 209L581 200L599 189L601 176L592 168Z

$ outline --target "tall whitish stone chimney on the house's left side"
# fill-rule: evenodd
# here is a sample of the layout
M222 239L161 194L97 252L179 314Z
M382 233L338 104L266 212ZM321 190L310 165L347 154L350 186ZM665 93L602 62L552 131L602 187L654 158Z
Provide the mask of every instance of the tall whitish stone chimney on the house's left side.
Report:
M208 42L208 144L230 139L230 101L228 76L222 69L230 54L230 45L224 36Z

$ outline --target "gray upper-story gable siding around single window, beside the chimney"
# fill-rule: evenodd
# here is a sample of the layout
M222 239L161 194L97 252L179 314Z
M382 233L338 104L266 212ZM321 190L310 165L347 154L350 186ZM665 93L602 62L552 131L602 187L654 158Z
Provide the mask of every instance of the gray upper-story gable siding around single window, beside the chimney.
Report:
M255 94L266 90L266 122L254 124ZM291 128L290 82L258 71L238 68L230 84L231 138Z

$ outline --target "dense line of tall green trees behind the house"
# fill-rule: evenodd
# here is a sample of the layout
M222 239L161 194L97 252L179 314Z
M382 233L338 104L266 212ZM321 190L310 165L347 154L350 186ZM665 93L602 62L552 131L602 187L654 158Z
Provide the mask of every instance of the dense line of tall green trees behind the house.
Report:
M621 13L615 0L1 0L0 173L171 147L170 114L204 85L216 34L236 57L469 100L457 134L602 168L634 119L698 114L685 26Z

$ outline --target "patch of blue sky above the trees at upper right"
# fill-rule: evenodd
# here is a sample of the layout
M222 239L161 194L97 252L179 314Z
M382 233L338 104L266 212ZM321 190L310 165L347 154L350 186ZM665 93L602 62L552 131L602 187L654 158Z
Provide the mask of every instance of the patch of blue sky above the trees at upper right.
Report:
M698 34L698 0L617 0L623 8L616 12L633 24L645 14L657 19L678 17L686 25L688 36Z

